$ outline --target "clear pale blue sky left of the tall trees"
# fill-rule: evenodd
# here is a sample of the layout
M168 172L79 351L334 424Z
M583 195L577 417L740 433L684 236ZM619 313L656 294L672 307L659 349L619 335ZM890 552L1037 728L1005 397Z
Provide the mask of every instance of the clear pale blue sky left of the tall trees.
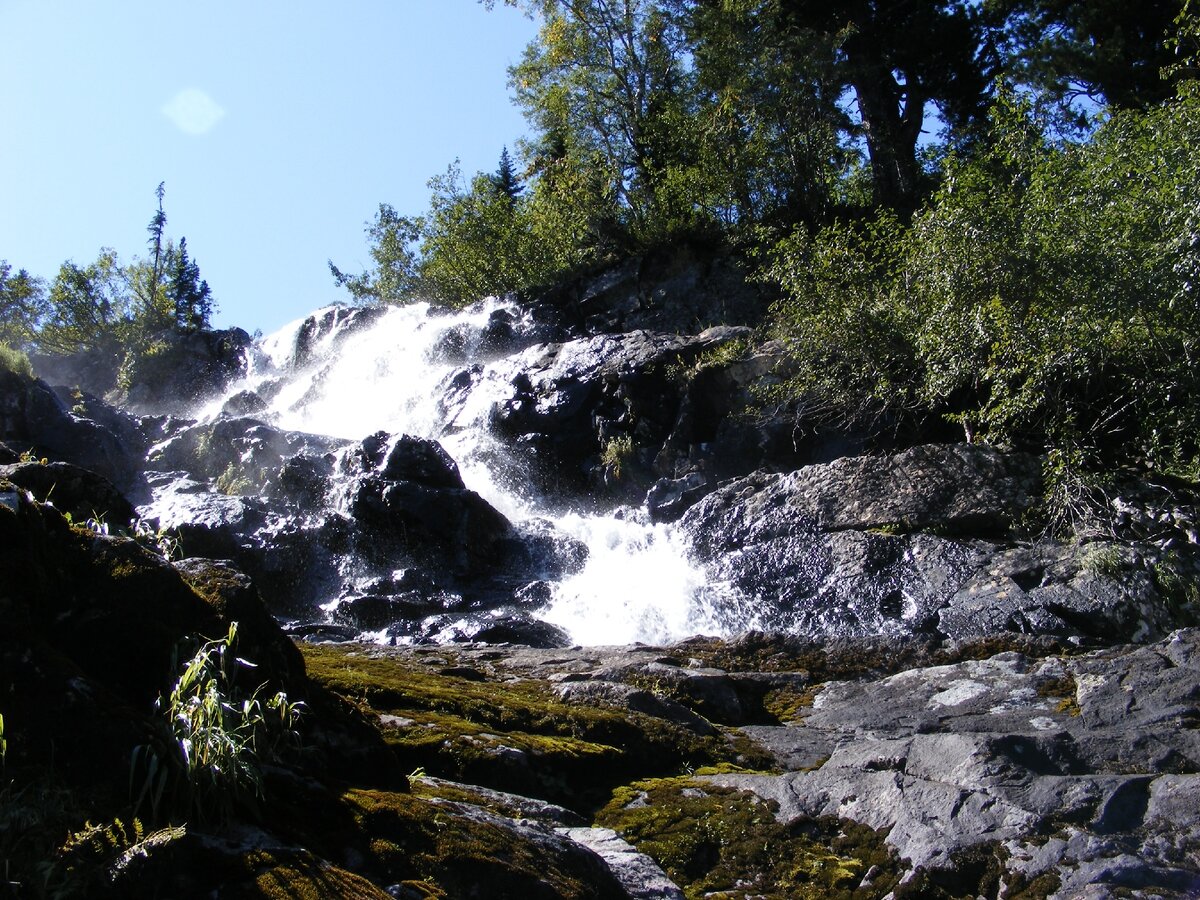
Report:
M52 278L145 253L155 187L217 324L342 296L382 202L526 133L506 68L535 23L476 0L0 0L0 259Z

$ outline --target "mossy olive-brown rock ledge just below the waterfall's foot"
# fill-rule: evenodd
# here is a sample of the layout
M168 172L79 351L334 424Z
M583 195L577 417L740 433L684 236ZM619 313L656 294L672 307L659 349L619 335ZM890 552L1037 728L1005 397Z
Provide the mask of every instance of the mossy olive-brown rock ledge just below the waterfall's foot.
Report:
M757 752L749 742L701 737L641 713L564 703L539 682L468 680L428 671L413 656L354 646L302 650L310 677L386 716L384 733L404 770L424 768L577 811L605 803L632 778L745 763Z

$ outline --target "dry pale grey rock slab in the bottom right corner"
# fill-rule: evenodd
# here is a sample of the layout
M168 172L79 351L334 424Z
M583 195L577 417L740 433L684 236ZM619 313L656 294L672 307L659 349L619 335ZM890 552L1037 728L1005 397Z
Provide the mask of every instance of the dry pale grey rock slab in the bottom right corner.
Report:
M1200 631L1074 659L1007 653L833 683L794 724L749 730L784 775L716 775L779 804L888 829L914 866L995 841L1014 871L1086 883L1196 884ZM1050 844L1037 835L1050 835ZM1051 844L1054 845L1050 848ZM1182 851L1182 847L1190 847ZM1181 887L1182 886L1182 887Z

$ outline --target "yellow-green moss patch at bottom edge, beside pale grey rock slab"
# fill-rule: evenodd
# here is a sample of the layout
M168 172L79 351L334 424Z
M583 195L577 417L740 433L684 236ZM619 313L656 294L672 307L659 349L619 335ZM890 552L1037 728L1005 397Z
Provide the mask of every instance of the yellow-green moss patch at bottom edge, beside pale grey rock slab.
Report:
M618 788L596 822L658 860L689 900L876 898L899 883L882 834L833 818L781 824L774 814L752 793L671 778Z

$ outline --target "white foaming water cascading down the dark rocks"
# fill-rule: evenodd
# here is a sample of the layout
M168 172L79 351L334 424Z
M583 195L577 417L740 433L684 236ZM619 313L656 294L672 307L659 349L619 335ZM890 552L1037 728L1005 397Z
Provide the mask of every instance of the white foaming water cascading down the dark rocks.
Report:
M426 304L414 304L389 308L370 326L342 335L338 316L323 311L331 324L310 336L302 368L292 360L300 320L259 342L247 377L229 394L253 390L269 396L262 418L290 431L350 440L386 431L438 440L467 486L511 521L548 520L586 544L583 569L554 584L552 601L536 613L577 643L659 643L722 634L702 600L703 575L688 560L683 536L671 526L652 524L630 509L553 514L522 481L520 467L506 464L487 419L492 404L505 390L511 392L511 372L478 359L479 348L470 346L504 306L488 300L454 314L431 314ZM455 361L444 352L449 336L458 337ZM440 402L445 384L472 364L481 370L448 421ZM215 416L223 401L215 401L202 418Z

